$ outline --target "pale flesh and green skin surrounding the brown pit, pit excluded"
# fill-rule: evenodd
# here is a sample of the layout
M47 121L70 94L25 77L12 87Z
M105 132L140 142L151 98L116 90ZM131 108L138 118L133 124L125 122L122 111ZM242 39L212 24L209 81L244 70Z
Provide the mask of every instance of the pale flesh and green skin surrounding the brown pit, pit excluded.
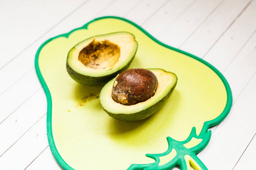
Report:
M105 84L100 92L100 103L109 116L121 121L143 120L158 111L177 84L177 76L163 69L148 69L158 79L158 88L150 99L134 105L122 105L112 99L112 88L114 79Z

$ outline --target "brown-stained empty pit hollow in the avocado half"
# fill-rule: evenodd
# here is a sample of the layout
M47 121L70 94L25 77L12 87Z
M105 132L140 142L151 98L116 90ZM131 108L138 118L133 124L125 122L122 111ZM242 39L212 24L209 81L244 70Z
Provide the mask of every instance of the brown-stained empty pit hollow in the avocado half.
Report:
M79 61L92 69L113 67L120 57L120 47L108 40L90 42L79 53Z

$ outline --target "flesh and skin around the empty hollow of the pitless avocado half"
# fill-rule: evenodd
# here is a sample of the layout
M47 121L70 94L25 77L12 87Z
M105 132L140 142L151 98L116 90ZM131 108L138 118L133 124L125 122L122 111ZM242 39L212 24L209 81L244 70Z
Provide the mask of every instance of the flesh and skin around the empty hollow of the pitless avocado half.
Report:
M79 66L77 64L74 64L74 60L75 62L80 62L77 55L79 54L79 51L82 50L82 48L85 48L86 45L82 46L83 44L86 44L86 43L88 44L88 42L91 42L97 39L99 40L106 39L112 42L112 37L116 39L116 37L119 35L121 36L121 38L127 38L124 41L129 41L131 39L132 45L131 45L131 49L129 50L129 53L125 55L122 54L122 59L120 60L121 58L120 56L118 59L118 64L116 63L112 68L105 69L105 70L92 69L92 68L88 69L86 68L85 65L82 65L81 63ZM120 48L122 50L123 47L121 46ZM66 62L66 69L67 69L68 75L71 76L73 80L75 80L80 84L84 84L85 86L101 86L109 82L109 80L113 79L118 74L128 69L128 67L130 66L131 62L135 57L135 54L137 53L137 49L138 49L138 42L135 40L135 36L129 32L114 32L114 33L108 33L105 35L97 35L97 36L89 37L88 39L85 39L79 42L71 50L69 50L67 62ZM75 58L75 59L71 59L71 58ZM84 69L86 71L84 71Z

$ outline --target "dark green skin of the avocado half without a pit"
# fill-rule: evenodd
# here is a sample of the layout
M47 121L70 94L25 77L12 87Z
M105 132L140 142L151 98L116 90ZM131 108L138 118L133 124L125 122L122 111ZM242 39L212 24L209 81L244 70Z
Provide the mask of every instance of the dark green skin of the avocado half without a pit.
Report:
M136 52L134 53L133 58L130 59L130 61L122 67L122 69L116 71L115 73L109 74L109 75L104 75L104 76L88 76L88 75L83 75L80 73L77 73L75 70L73 70L69 65L68 62L66 64L67 71L69 76L76 82L83 84L85 86L102 86L106 83L108 83L110 80L115 78L118 74L122 73L123 71L127 70L128 67L130 66L131 62L133 61L135 57Z

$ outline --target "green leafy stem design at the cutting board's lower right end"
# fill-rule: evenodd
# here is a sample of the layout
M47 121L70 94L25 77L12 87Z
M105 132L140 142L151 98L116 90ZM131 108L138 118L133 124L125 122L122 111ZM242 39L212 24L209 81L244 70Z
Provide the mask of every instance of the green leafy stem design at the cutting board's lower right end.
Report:
M162 169L168 170L176 167L179 167L183 170L190 169L191 165L194 169L207 169L204 163L196 156L201 150L204 149L205 146L210 141L211 131L209 130L207 133L203 135L196 135L196 129L192 128L191 134L188 139L183 142L175 141L171 137L167 137L168 141L168 150L161 154L146 154L147 157L155 160L155 163L151 164L132 164L128 169L144 169L144 170L153 170L153 169ZM192 140L199 140L200 142L192 147L186 147L186 145ZM201 139L201 140L200 140ZM171 154L171 152L176 152L174 158L172 158L169 162L164 164L160 164L161 157L167 156Z

